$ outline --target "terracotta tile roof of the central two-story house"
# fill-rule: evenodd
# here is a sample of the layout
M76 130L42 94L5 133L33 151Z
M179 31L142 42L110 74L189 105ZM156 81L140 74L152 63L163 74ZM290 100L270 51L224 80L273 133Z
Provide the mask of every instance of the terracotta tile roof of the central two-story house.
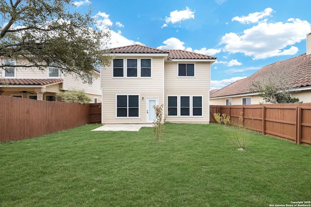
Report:
M119 48L109 49L109 53L132 53L132 54L141 54L141 53L157 53L157 54L168 54L169 59L207 59L207 60L216 60L216 57L199 54L195 52L185 51L181 49L157 49L151 48L144 45L129 45Z

